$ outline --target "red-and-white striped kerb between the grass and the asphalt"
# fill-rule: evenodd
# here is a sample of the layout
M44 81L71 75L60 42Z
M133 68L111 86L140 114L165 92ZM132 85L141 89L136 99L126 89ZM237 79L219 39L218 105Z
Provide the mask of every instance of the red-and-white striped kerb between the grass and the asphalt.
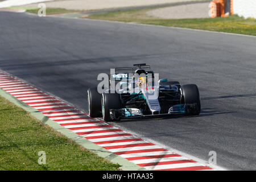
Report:
M213 169L154 143L136 138L100 119L91 118L75 107L1 71L0 88L41 111L61 126L148 170Z

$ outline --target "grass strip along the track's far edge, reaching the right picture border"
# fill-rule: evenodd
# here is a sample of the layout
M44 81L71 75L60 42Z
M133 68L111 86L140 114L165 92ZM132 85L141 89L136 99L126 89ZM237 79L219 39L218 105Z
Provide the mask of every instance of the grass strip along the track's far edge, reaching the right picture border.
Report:
M88 18L256 35L256 19L253 18L245 19L237 15L232 15L225 18L160 19L147 15L147 11L152 9L156 8L112 11L90 15Z

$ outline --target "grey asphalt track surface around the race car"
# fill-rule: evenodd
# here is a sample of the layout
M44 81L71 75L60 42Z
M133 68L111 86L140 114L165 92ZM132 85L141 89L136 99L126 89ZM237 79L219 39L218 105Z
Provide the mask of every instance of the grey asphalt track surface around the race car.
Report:
M86 90L110 68L147 63L197 84L199 117L111 123L233 170L256 169L256 38L0 12L0 69L87 110Z

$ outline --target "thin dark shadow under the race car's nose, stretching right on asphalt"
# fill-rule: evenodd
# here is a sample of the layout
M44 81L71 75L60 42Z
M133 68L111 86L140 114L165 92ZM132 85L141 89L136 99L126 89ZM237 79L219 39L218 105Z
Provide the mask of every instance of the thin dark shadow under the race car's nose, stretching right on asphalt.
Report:
M118 123L120 122L138 122L138 121L162 121L165 119L180 119L180 118L200 118L200 117L209 117L212 115L217 115L217 114L230 114L230 113L237 113L237 111L212 111L216 110L217 108L202 108L201 113L199 115L192 115L192 116L187 116L184 114L179 114L179 115L167 115L167 116L153 116L153 117L145 117L145 118L133 118L133 119L122 119L121 121L117 121Z

